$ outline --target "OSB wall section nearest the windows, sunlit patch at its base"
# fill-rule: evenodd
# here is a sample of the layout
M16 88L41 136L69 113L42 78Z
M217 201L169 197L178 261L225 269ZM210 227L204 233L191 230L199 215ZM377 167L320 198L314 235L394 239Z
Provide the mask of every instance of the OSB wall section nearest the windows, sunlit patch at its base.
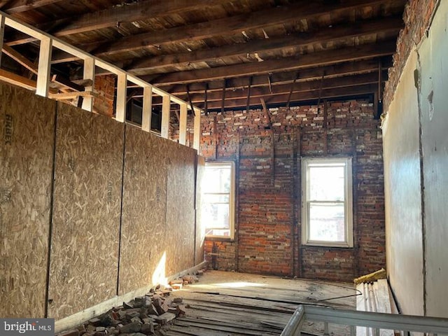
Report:
M195 153L127 127L120 294L194 265Z

